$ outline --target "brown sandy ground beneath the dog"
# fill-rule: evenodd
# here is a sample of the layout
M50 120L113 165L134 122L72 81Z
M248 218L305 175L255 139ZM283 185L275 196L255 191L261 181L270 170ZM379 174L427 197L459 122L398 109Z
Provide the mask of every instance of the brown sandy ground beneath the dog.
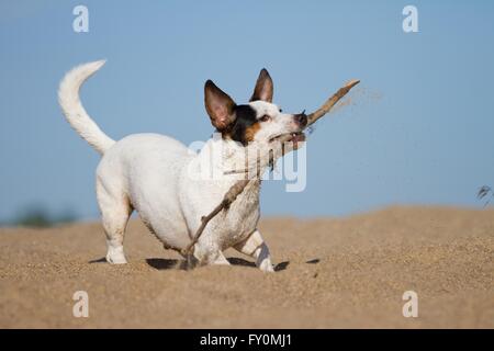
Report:
M100 262L100 224L0 229L1 328L493 328L494 210L391 207L348 218L267 218L277 263L261 273L175 268L138 220L130 264ZM72 316L87 291L89 318ZM404 318L402 295L418 294Z

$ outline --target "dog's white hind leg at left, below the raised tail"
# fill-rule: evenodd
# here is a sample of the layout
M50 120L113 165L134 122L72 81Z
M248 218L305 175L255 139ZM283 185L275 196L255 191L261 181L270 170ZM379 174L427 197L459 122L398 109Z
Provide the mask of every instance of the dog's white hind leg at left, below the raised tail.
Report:
M97 181L97 195L104 234L106 235L106 261L114 264L127 263L123 250L123 240L133 211L132 205L127 196L110 191L101 181Z

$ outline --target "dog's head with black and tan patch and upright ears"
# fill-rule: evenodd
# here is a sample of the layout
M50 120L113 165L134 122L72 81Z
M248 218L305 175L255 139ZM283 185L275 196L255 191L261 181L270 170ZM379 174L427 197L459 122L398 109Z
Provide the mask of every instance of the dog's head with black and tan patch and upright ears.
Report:
M247 146L250 143L269 145L290 135L296 147L299 141L305 140L302 131L307 116L304 113L283 113L272 103L272 95L273 83L266 69L260 71L252 97L246 104L236 104L211 80L204 86L205 109L223 138Z

